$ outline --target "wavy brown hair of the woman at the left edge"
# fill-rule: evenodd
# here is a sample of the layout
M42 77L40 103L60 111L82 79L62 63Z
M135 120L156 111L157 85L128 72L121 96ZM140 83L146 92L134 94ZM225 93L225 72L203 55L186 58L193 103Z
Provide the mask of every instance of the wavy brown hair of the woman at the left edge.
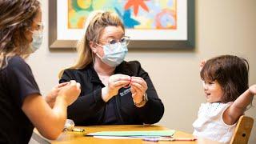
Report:
M2 0L0 2L0 70L14 55L26 58L31 53L26 30L40 10L38 0Z

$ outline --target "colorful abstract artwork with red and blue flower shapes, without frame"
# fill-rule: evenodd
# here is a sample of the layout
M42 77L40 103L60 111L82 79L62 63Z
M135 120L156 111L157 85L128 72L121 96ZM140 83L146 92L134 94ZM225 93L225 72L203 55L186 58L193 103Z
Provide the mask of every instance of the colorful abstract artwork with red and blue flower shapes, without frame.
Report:
M83 29L93 10L117 13L134 30L176 30L177 0L68 0L68 28Z

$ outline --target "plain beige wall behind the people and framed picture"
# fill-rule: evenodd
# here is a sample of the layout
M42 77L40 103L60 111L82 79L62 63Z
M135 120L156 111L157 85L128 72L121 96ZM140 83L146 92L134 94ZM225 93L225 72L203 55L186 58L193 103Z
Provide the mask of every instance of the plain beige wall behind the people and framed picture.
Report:
M53 52L48 48L48 1L42 1L46 22L42 49L28 59L42 94L58 83L58 71L70 66L74 52ZM250 84L256 83L256 1L197 0L196 47L194 51L130 51L126 60L138 60L149 72L165 104L165 114L158 124L170 129L193 132L198 107L205 102L198 74L198 63L218 54L236 54L250 62ZM256 102L254 100L254 106ZM255 108L246 112L254 119ZM256 123L256 122L255 122ZM256 125L250 143L256 142Z

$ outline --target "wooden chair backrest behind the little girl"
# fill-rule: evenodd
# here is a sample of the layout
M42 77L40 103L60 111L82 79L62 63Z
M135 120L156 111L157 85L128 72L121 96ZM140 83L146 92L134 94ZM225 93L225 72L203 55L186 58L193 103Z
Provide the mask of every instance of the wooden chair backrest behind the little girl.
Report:
M250 131L254 126L254 119L242 115L234 129L230 144L246 144L250 138Z

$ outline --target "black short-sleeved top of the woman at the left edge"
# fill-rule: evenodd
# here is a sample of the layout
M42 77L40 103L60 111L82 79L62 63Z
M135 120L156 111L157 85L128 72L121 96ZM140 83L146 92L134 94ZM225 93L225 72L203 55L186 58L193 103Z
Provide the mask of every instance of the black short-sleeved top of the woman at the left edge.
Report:
M14 56L0 70L0 143L28 143L34 126L22 111L30 94L40 94L30 66Z

